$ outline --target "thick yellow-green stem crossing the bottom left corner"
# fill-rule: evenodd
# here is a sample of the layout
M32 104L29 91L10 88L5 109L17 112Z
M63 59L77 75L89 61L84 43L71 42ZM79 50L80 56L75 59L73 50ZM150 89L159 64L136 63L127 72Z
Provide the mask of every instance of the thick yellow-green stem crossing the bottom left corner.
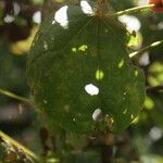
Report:
M16 140L12 139L11 137L9 137L8 135L5 135L3 131L0 130L0 137L11 143L12 146L16 147L17 149L22 149L26 155L29 155L30 158L33 158L36 161L40 161L39 156L37 156L34 152L32 152L29 149L25 148L23 145L21 145L20 142L17 142Z

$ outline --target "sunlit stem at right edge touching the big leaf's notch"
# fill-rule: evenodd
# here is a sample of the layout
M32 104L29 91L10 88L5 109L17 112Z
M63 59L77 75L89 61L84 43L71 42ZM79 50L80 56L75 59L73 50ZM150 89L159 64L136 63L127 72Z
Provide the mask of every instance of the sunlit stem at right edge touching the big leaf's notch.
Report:
M138 55L138 54L141 54L142 52L145 52L145 51L147 51L147 50L150 50L150 49L152 49L152 48L154 48L154 47L158 47L158 46L160 46L160 45L162 45L162 43L163 43L163 40L155 41L155 42L153 42L153 43L151 43L151 45L149 45L149 46L147 46L147 47L145 47L145 48L138 50L138 51L135 51L135 52L129 53L129 58L134 58L134 57L136 57L136 55Z

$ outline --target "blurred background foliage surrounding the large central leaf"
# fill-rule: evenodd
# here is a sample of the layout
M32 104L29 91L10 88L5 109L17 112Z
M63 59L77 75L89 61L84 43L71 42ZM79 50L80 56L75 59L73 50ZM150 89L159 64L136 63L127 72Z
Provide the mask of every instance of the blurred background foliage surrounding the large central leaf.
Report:
M143 1L112 0L115 11L128 9L142 4ZM141 3L140 3L141 2ZM40 11L42 18L50 11L57 10L63 2L41 0L1 0L0 1L0 88L12 91L23 97L30 97L26 84L25 67L26 58L32 40L39 27ZM42 8L43 7L43 8ZM48 10L47 10L48 9ZM133 17L134 16L134 17ZM134 21L137 39L130 38L128 51L133 52L154 41L161 40L163 36L163 15L151 12L142 12L121 17L128 24L127 20ZM138 23L136 23L138 22ZM137 25L140 25L140 28ZM129 26L129 25L128 25ZM128 27L129 28L129 27ZM163 84L163 46L150 49L133 59L133 62L142 67L146 74L147 87L155 87ZM33 149L37 154L47 155L45 162L55 162L55 158L64 155L62 162L104 162L113 147L113 155L116 162L163 162L163 93L158 89L148 89L145 106L140 115L122 134L110 138L109 142L83 137L68 137L70 143L62 137L51 136L43 126L43 117L38 123L37 114L27 104L0 95L0 129L17 139L23 145ZM40 120L40 115L39 115ZM39 124L39 125L38 125ZM72 140L73 139L73 140ZM55 140L61 153L55 152ZM15 154L21 154L16 148L7 145L0 139L1 162L18 162ZM34 143L35 142L35 143ZM67 146L68 145L68 146ZM75 148L74 148L75 147ZM73 150L72 150L73 149ZM106 150L105 150L106 149ZM8 152L9 151L9 152ZM11 152L12 151L12 152ZM14 151L14 152L13 152ZM73 151L67 154L67 151ZM101 153L99 152L101 151ZM100 153L100 154L99 154ZM22 154L24 162L33 162Z

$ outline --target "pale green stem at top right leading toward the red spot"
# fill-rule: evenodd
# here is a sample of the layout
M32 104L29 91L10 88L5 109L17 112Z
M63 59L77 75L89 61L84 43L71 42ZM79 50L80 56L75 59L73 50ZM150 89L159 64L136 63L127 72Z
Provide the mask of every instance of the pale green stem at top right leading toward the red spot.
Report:
M108 13L105 16L109 16L109 17L114 17L115 16L116 17L116 16L121 16L121 15L124 15L124 14L130 14L130 13L135 13L135 12L140 12L140 11L143 11L143 10L153 9L155 7L156 7L155 4L141 5L141 7L136 7L136 8L118 11L118 12L113 13L113 14Z

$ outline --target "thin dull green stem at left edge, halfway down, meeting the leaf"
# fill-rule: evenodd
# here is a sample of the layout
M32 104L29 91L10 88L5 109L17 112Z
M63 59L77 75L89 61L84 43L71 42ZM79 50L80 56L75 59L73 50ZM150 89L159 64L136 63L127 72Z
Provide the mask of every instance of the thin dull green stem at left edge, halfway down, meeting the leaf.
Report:
M17 96L17 95L15 95L13 92L8 91L8 90L0 89L0 93L4 95L7 97L10 97L10 98L13 98L13 99L26 102L26 103L32 105L32 101L29 99L23 98L21 96Z

